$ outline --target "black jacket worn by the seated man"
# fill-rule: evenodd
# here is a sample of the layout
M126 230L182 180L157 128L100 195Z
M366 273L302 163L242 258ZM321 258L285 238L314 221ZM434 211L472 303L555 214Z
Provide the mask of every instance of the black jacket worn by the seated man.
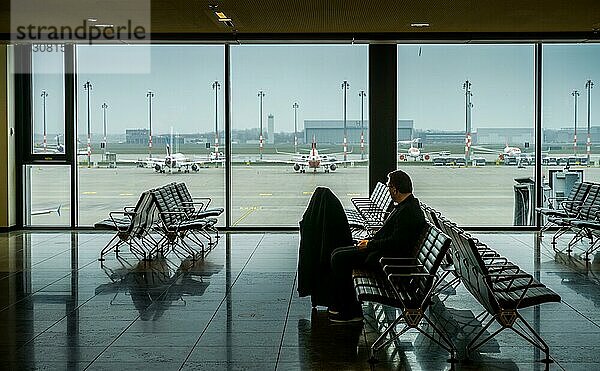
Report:
M367 250L372 253L367 264L374 264L382 256L413 257L419 236L425 227L425 215L412 194L396 205L385 223L370 239Z

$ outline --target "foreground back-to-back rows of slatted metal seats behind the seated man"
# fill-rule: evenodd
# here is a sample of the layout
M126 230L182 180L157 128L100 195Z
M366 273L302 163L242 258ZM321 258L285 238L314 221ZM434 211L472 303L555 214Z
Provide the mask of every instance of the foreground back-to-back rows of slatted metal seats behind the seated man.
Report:
M360 301L399 309L398 317L372 344L371 360L375 359L378 350L414 328L446 349L451 355L450 362L455 362L454 344L433 323L426 310L433 296L441 293L443 287L462 282L485 309L476 318L481 318L482 322L490 318L468 344L467 355L503 330L511 329L544 352L542 362L552 362L548 345L519 310L546 302L558 302L560 296L441 213L425 204L421 206L427 217L427 226L415 258L384 257L380 260L379 271L353 271L354 287ZM450 273L455 278L448 282ZM430 325L437 337L419 327L422 321ZM401 323L404 328L397 332L396 327ZM486 330L494 323L499 325L499 329L484 337Z

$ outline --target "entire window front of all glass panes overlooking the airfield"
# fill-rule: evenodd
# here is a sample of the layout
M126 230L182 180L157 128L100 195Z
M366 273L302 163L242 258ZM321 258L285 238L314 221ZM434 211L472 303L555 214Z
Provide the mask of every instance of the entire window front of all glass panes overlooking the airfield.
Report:
M223 45L76 46L72 102L67 46L48 48L28 54L26 225L71 225L75 206L76 224L91 225L173 181L224 207L225 160L233 227L296 226L318 186L347 207L368 194L367 45L232 45L229 102ZM534 46L411 44L397 52L397 163L417 197L465 226L533 223ZM548 203L574 179L600 178L600 46L549 44L542 57L538 160ZM70 104L77 128L66 138ZM69 140L74 159L64 157ZM564 176L567 165L576 175Z

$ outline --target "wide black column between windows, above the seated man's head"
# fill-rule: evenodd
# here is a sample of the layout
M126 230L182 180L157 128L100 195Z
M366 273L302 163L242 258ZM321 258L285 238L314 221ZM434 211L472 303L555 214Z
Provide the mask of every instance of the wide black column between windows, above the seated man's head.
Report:
M369 45L369 193L397 166L397 60L396 44Z

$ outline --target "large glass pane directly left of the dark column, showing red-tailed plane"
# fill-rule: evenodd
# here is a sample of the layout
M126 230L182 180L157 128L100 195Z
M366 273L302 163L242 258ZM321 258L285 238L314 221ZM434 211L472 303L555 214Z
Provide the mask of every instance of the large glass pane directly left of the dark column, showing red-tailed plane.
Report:
M231 47L232 226L297 226L317 186L368 194L367 76L366 45Z

